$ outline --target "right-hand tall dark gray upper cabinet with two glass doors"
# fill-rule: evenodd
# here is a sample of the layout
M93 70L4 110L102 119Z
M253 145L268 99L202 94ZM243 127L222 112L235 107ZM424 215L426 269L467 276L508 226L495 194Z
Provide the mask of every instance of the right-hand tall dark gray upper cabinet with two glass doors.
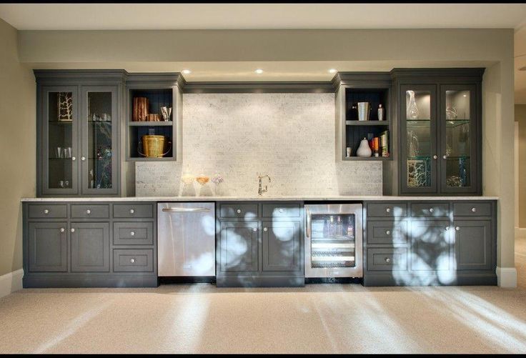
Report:
M484 69L394 69L400 194L480 195Z

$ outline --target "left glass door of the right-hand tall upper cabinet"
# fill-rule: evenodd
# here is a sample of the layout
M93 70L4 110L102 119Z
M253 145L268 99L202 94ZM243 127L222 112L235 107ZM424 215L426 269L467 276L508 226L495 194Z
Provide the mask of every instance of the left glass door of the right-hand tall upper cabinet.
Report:
M436 86L401 86L402 192L437 192Z

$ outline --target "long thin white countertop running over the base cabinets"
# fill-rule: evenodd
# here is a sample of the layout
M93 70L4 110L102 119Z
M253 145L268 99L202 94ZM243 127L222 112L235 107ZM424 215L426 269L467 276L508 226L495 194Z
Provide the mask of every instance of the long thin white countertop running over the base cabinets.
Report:
M284 196L284 197L56 197L56 198L22 198L21 202L241 202L241 201L396 201L396 200L498 200L499 197L392 197L372 195L336 195L332 197L322 196Z

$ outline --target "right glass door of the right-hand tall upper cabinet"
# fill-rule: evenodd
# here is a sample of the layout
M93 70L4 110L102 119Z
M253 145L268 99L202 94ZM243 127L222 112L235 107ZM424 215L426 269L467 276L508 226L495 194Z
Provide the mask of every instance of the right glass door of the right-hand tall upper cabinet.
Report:
M440 96L442 192L476 190L475 86L440 86Z

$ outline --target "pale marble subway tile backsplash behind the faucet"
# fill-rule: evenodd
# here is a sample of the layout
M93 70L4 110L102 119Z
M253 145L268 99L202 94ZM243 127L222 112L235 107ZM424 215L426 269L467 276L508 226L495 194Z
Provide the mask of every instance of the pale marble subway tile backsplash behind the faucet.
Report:
M136 162L136 195L253 196L259 174L266 196L381 195L382 162L336 161L334 125L334 94L184 94L182 161Z

